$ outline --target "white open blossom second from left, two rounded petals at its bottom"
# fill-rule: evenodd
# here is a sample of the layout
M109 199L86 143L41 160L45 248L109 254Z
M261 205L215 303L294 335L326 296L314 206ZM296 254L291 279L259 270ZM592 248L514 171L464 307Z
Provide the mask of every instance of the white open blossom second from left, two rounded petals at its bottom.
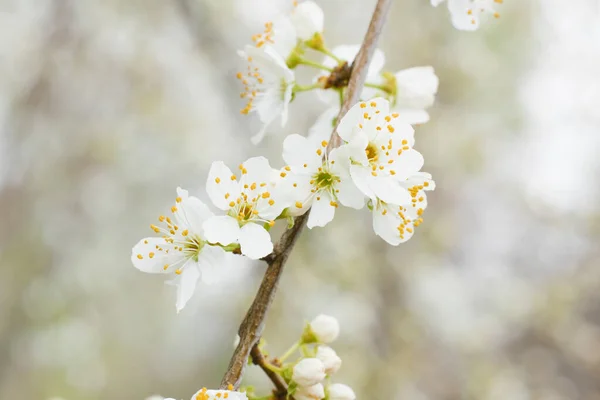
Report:
M279 187L271 184L272 169L266 158L250 158L239 169L238 180L222 161L213 162L206 191L213 204L227 215L209 218L204 231L209 242L239 243L242 254L256 260L273 251L265 224L275 225L288 203Z

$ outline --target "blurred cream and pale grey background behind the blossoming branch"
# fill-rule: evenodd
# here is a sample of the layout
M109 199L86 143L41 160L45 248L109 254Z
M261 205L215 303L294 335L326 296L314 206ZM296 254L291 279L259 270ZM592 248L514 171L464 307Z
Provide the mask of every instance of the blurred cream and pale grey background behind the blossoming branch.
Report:
M373 0L317 0L333 47ZM287 0L0 0L0 398L188 399L216 387L263 263L224 266L179 315L131 247L213 160L268 155L324 110L298 96L260 146L236 49ZM391 247L368 212L306 230L268 317L271 354L339 318L359 399L600 399L600 2L505 1L460 32L398 0L386 69L432 65L417 128L437 189ZM318 56L317 56L318 57ZM308 73L300 80L310 81ZM269 387L250 368L246 384Z

